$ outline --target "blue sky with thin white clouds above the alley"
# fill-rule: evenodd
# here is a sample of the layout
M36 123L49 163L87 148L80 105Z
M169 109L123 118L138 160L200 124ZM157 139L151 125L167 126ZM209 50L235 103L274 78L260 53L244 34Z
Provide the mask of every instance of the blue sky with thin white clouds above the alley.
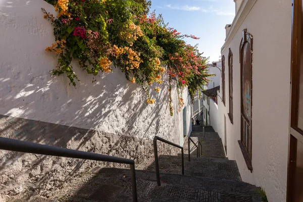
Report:
M199 52L210 57L210 62L219 60L225 40L225 25L231 24L235 16L233 0L151 0L151 10L162 14L169 27L182 34L193 34L198 40L187 39L187 43L198 43Z

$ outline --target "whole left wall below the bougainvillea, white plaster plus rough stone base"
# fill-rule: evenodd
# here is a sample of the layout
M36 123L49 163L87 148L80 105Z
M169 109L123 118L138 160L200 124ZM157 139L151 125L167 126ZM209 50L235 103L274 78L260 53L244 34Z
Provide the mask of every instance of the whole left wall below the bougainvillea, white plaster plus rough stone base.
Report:
M141 87L127 81L119 69L100 74L92 83L93 77L74 61L74 71L81 80L76 88L69 85L65 75L52 76L49 71L56 68L57 59L44 49L55 38L41 8L55 14L54 7L42 0L0 1L0 115L6 115L0 119L0 136L132 158L136 163L153 156L151 139L155 135L182 144L182 110L176 111L174 86L175 111L170 116L167 78L159 93L151 93L156 103L147 105ZM184 89L184 102L189 107L187 94ZM187 124L189 133L190 121ZM175 152L167 148L161 147L160 153ZM47 195L67 181L65 177L95 166L6 151L0 155L6 157L1 158L0 200L29 193L29 189ZM35 172L33 165L39 167ZM46 176L43 186L42 176Z

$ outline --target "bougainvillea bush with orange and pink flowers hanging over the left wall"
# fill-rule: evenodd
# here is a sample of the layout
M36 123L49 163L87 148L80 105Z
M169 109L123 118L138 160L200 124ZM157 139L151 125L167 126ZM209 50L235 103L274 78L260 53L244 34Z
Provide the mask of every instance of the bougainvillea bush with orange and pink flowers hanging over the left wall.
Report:
M146 103L154 83L161 84L164 73L169 75L170 113L173 115L171 90L176 82L178 107L183 107L182 89L187 87L191 98L208 83L207 58L196 46L185 43L184 37L168 27L155 12L146 15L150 1L145 0L45 0L54 5L57 16L42 8L44 18L54 25L56 42L45 51L58 55L54 75L66 74L72 85L78 78L71 61L94 76L121 69L126 78L142 86ZM95 80L95 77L94 77ZM93 81L94 81L93 80ZM155 85L153 85L155 86ZM193 99L192 99L193 100Z

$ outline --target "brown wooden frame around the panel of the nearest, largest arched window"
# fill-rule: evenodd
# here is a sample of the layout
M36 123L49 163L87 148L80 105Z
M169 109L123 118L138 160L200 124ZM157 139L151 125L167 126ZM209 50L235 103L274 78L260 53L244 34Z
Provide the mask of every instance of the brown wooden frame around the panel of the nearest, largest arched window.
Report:
M243 96L242 96L242 89L243 89L243 82L242 82L242 74L243 74L243 64L242 64L242 51L243 47L246 43L249 43L250 45L250 75L251 75L251 80L250 80L250 117L249 120L244 116L243 114ZM246 29L242 31L242 39L240 43L240 50L239 50L239 59L240 59L240 80L241 80L241 115L240 115L240 121L241 121L241 140L238 140L239 146L242 151L242 155L244 157L246 166L250 172L252 172L252 164L251 164L251 159L252 159L252 127L251 127L251 117L252 117L252 35L247 33ZM247 142L243 138L243 131L247 130ZM244 134L245 134L244 133ZM245 145L247 143L247 145Z

